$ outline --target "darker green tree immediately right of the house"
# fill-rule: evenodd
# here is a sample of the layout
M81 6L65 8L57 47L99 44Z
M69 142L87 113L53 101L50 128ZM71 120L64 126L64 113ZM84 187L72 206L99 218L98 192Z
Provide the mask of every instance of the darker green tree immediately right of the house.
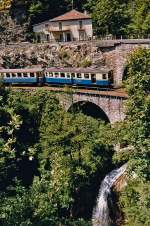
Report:
M96 34L124 35L130 20L127 3L120 0L89 0L86 7L92 13Z

